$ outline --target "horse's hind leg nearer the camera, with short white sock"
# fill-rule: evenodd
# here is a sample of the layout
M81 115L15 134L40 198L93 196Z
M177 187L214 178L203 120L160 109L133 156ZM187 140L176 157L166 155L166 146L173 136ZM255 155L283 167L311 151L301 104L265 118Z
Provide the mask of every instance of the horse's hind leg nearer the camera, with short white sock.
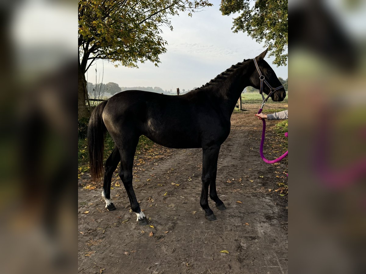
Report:
M137 202L135 191L132 187L132 166L134 163L134 155L136 151L137 140L133 142L124 141L123 147L120 149L121 155L121 168L119 176L123 182L124 188L126 189L128 199L130 200L131 209L137 215L137 222L139 225L147 225L145 214L141 211L140 205Z

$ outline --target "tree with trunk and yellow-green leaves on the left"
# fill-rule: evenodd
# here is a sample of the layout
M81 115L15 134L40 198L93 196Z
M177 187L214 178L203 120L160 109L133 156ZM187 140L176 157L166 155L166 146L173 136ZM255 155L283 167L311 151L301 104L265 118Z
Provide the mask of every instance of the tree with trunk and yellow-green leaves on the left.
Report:
M173 30L169 16L188 11L188 16L203 7L207 0L79 0L79 117L87 116L85 73L97 59L109 60L115 66L137 67L167 51L161 36L162 26Z

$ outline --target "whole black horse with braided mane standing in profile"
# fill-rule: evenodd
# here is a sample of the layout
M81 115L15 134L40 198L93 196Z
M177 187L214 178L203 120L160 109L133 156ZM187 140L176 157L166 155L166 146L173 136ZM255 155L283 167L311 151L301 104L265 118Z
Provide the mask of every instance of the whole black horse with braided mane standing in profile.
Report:
M272 87L281 86L275 72L264 60L265 50L255 57L261 77ZM263 78L262 78L263 79ZM132 165L139 137L145 135L157 144L169 148L202 148L202 192L200 204L208 220L216 217L208 204L208 194L219 210L225 205L216 193L217 158L221 144L230 132L230 117L245 87L259 89L260 79L253 59L231 66L206 85L184 95L163 95L128 90L99 104L88 125L90 174L100 178L103 171L105 131L111 134L115 147L105 161L102 197L108 210L116 209L111 202L112 174L121 161L119 176L130 199L138 224L147 220L140 209L132 187ZM274 89L272 90L274 91ZM264 86L264 92L270 88ZM276 89L270 97L280 102L286 96L284 88ZM210 192L209 192L210 186Z

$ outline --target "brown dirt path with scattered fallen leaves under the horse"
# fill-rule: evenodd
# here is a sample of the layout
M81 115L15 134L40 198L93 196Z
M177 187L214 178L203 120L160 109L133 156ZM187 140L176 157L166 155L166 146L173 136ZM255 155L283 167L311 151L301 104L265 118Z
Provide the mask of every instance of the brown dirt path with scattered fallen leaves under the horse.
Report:
M287 198L274 191L276 183L287 184L287 159L278 165L260 159L261 123L253 118L258 106L243 107L247 111L232 115L218 161L217 193L227 210L209 200L217 217L209 222L199 206L201 149L173 149L160 160L140 161L134 189L153 227L137 225L118 177L112 179L113 212L104 209L101 189L79 188L79 273L287 273Z

